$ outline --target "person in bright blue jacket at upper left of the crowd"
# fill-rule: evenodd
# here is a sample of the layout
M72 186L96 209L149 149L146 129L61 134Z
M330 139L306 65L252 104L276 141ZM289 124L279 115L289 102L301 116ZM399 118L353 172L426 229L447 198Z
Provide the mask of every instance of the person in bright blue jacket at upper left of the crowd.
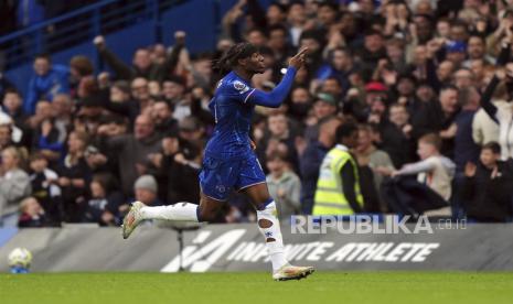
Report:
M52 100L58 93L70 93L70 68L52 64L50 56L38 55L34 59L34 74L29 80L24 112L33 115L39 100Z

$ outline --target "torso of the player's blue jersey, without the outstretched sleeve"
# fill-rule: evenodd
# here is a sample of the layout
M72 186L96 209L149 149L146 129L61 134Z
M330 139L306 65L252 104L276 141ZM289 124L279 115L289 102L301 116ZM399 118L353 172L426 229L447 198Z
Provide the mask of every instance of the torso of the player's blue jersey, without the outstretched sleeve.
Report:
M234 72L220 80L209 104L216 124L206 144L205 154L234 159L252 152L249 130L255 105L249 102L249 98L254 91L255 89Z

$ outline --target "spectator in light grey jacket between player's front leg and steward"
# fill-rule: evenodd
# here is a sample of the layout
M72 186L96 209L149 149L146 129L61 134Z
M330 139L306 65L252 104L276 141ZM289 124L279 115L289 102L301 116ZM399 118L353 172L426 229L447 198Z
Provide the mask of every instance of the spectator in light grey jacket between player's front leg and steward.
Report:
M276 200L278 217L281 220L290 220L291 215L301 211L301 182L290 166L290 162L280 153L275 152L267 156L267 187Z

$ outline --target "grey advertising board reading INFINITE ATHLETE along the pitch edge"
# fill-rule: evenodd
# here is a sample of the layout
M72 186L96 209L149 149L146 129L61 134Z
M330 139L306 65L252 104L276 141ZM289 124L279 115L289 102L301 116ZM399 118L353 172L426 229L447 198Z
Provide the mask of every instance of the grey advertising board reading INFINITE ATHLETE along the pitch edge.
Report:
M512 225L431 224L415 234L291 234L284 225L286 251L295 264L319 270L512 271ZM300 232L300 231L299 231ZM2 237L3 236L3 237ZM145 226L128 239L119 228L0 229L0 272L17 247L32 251L34 272L81 271L263 271L270 268L255 224L206 225L179 234ZM180 254L181 253L181 254Z

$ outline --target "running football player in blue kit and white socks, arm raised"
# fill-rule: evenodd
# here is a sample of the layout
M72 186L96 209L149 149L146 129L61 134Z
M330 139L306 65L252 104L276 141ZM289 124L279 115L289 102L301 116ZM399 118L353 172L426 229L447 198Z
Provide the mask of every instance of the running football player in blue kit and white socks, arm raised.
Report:
M301 279L313 272L312 267L293 267L285 258L276 204L269 196L266 175L249 139L255 106L278 108L281 105L292 86L297 70L304 64L306 52L307 48L303 48L290 59L284 78L270 93L250 86L253 75L266 69L264 56L255 45L239 43L223 55L217 62L217 67L229 73L220 80L209 104L216 126L206 144L200 173L200 206L179 203L149 207L136 202L124 219L124 238L128 238L145 219L207 221L215 217L232 191L241 191L249 196L257 211L258 227L264 235L272 263L272 279Z

